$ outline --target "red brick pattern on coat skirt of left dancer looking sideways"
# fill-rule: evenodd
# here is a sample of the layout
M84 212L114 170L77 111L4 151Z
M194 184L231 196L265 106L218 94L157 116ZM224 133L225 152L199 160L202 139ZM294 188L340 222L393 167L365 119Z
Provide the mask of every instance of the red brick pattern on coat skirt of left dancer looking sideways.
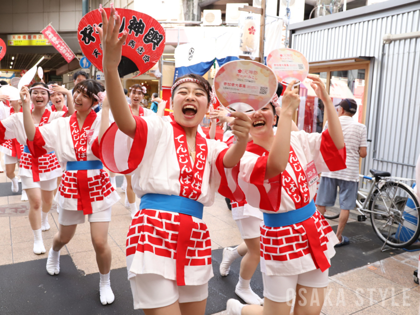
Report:
M87 183L89 186L90 202L101 201L113 191L109 177L103 169L100 169L100 174L87 177ZM65 171L62 174L58 191L64 198L80 198L75 171Z

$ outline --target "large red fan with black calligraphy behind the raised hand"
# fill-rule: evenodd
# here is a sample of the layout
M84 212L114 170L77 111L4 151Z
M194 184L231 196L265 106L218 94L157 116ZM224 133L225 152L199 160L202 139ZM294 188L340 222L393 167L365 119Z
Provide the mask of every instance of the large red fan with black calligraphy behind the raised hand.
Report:
M109 18L110 8L104 10ZM135 71L142 74L159 61L165 47L165 31L158 21L147 14L123 8L116 10L121 17L119 35L122 35L124 29L128 33L118 65L119 76ZM90 11L82 17L78 24L77 39L86 58L102 70L102 47L96 25L102 26L99 10Z

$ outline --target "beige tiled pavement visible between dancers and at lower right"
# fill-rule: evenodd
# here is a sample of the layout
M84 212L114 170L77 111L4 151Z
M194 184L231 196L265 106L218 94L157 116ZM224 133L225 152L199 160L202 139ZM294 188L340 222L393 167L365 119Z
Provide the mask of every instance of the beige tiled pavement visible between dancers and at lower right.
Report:
M2 182L10 182L5 173L0 173L0 183ZM125 267L125 234L130 223L129 210L123 205L124 194L120 188L117 191L121 199L112 206L112 220L108 232L108 241L112 250L112 269ZM32 252L33 235L27 214L28 202L21 202L20 195L0 197L0 265L46 258L46 254L35 255ZM220 195L216 195L211 207L204 208L203 218L210 231L212 249L241 242L236 224ZM51 229L42 232L47 250L57 231L55 205L50 211L48 220ZM336 225L337 221L330 220L330 224ZM79 224L73 239L61 250L61 254L69 254L77 268L85 274L97 272L89 229L89 224ZM416 269L417 262L418 251L401 251L395 256L330 276L328 298L325 300L322 313L325 315L418 314L420 289L412 279L412 272ZM225 312L217 314L222 315Z

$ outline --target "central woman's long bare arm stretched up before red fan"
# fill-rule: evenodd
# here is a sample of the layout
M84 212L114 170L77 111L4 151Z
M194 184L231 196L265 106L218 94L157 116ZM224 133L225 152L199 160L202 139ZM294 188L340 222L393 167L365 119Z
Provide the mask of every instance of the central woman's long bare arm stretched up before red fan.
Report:
M121 17L115 14L113 6L111 6L109 20L106 18L104 9L100 9L100 12L102 15L102 28L96 26L96 29L99 31L100 42L102 43L102 68L105 76L105 89L108 95L109 107L118 128L129 137L134 138L135 120L131 114L118 75L118 64L121 60L122 45L127 38L127 32L124 30L122 36L118 39Z

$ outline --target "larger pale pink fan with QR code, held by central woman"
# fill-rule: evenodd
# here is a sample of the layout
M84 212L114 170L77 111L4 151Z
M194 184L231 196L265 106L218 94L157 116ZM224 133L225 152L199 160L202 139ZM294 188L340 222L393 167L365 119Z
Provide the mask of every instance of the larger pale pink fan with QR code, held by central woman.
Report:
M274 72L256 61L227 62L214 77L214 90L220 104L235 111L245 112L264 107L276 89Z

